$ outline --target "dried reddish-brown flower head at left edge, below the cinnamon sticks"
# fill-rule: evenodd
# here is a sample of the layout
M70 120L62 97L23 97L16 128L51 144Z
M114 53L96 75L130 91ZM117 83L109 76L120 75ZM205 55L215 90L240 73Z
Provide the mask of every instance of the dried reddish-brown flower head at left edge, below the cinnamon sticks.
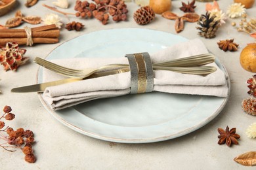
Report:
M23 56L25 53L26 50L20 49L17 42L7 42L5 48L0 48L0 63L5 67L5 71L16 71L28 61L29 58Z

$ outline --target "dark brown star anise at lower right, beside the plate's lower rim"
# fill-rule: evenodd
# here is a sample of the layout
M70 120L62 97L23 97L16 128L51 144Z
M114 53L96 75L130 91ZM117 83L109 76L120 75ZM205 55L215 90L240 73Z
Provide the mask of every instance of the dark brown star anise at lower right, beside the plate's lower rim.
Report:
M222 128L218 128L219 131L219 141L218 144L224 144L231 146L231 144L238 144L238 140L240 135L236 134L236 128L232 128L229 130L229 127L226 126L226 131Z

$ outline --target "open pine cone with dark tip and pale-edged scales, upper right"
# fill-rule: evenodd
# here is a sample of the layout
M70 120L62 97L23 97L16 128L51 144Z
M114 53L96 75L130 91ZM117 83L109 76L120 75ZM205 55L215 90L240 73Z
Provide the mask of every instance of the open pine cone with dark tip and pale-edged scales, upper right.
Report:
M196 27L200 32L198 33L200 36L205 37L206 39L212 39L216 35L216 31L219 28L220 20L215 20L216 16L211 16L210 13L206 12L205 15L201 15L198 24L202 27Z

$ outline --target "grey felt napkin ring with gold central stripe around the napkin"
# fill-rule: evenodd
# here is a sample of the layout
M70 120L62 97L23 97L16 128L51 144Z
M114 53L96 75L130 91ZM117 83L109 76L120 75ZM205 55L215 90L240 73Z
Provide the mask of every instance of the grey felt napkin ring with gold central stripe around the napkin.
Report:
M148 93L154 88L154 73L147 52L127 54L131 71L131 93Z

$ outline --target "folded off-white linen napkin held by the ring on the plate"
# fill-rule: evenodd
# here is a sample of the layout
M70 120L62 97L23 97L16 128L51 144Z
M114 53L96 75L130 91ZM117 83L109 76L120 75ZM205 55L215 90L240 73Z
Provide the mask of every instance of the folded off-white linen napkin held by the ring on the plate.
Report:
M156 54L150 54L150 57L152 63L159 63L205 53L208 53L208 51L203 42L199 39L194 39L175 44L160 50ZM85 69L86 67L98 68L110 63L128 63L127 58L124 56L120 58L72 58L51 61L73 69ZM217 67L217 71L207 76L187 75L163 70L154 71L154 91L227 97L227 77L216 63L210 63L208 65ZM64 76L43 69L44 82L62 78ZM126 95L131 92L130 79L130 72L127 72L52 86L45 90L43 99L51 109L58 110L94 99Z

